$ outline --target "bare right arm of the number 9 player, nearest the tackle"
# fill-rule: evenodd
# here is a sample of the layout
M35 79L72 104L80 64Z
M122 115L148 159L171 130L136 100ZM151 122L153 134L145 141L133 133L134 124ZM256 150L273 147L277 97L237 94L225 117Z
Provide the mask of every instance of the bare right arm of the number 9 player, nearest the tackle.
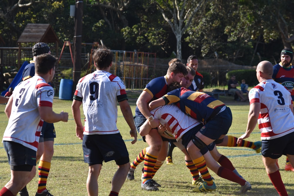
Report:
M123 100L118 103L121 108L121 112L123 113L123 117L125 118L126 122L128 123L128 126L131 129L130 135L131 135L131 137L134 138L134 140L131 143L134 144L137 141L137 131L136 131L136 126L134 123L134 118L133 118L133 113L132 113L131 107L130 107L127 100Z

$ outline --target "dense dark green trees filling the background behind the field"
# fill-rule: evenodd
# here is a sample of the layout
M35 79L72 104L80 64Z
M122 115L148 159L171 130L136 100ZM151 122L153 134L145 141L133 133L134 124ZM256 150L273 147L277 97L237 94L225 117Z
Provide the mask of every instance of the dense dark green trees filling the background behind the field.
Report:
M201 2L199 10L192 12ZM73 41L74 17L69 17L69 9L74 4L74 0L2 0L0 36L5 44L0 46L17 46L28 23L51 24L61 43ZM103 40L113 50L152 52L169 58L177 52L177 35L159 9L168 5L173 8L166 12L171 23L178 23L174 19L181 11L186 13L183 26L191 18L181 37L183 59L191 54L199 58L217 54L240 65L256 65L260 60L275 63L281 49L291 47L294 40L294 1L86 0L82 41ZM179 23L176 26L183 29Z

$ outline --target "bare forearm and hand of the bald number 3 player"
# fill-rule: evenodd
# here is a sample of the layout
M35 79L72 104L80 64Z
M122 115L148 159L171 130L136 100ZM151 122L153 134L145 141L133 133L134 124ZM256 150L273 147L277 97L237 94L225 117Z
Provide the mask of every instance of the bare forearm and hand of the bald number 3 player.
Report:
M243 139L248 138L250 133L254 130L260 112L260 103L251 103L248 113L248 122L246 132L237 140L237 144L241 143Z

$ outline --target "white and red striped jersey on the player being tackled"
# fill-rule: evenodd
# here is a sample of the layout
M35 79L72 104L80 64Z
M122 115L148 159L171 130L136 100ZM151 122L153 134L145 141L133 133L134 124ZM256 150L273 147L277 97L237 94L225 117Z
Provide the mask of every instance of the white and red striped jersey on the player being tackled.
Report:
M168 123L170 129L173 131L173 136L178 141L184 133L188 130L202 124L199 120L196 120L185 113L183 113L175 104L169 104L154 108L151 114L160 120L161 124Z

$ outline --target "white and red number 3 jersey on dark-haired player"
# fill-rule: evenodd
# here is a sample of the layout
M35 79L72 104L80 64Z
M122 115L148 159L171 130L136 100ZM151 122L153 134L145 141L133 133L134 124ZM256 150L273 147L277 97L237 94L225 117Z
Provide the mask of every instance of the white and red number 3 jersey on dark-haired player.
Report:
M43 120L38 107L52 107L54 89L40 76L19 83L2 141L13 141L37 151Z

